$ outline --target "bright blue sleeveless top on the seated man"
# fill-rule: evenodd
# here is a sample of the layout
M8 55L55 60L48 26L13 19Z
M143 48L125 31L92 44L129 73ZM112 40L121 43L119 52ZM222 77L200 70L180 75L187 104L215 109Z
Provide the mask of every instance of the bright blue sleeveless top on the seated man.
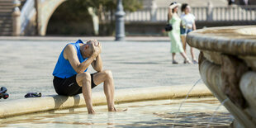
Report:
M83 56L81 55L80 45L79 45L81 43L83 44L83 41L78 40L76 43L69 43L68 45L73 45L75 50L77 50L77 55L78 55L78 59L79 59L80 63L83 63L83 61L87 60L87 58L83 59ZM73 67L69 63L69 60L64 59L63 53L64 53L64 50L62 50L59 55L59 59L58 59L57 64L55 65L55 70L53 72L53 75L58 78L70 78L73 75L77 74L77 72L73 69ZM87 70L88 69L85 69L84 72L86 72Z

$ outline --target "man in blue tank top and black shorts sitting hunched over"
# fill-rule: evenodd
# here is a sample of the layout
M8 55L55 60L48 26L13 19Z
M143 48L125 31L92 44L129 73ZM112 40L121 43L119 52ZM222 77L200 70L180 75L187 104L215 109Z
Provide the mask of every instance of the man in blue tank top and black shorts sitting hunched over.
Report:
M104 83L108 111L116 111L114 107L114 81L110 70L102 70L102 45L97 40L83 43L69 43L59 55L53 72L55 91L59 95L73 96L83 92L88 113L93 114L92 88ZM97 73L88 73L89 65Z

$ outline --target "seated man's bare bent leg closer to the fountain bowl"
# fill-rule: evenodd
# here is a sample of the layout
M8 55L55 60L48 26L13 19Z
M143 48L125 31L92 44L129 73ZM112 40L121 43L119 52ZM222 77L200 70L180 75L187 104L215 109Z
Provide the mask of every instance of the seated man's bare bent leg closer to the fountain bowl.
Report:
M113 76L110 70L103 70L102 72L93 74L93 82L98 85L104 83L104 93L107 97L108 111L116 111L115 108L115 85Z

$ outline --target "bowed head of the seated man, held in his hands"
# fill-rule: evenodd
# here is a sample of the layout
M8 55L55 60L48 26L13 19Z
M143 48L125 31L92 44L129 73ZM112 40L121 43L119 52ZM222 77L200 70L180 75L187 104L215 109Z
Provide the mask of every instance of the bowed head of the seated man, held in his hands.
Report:
M82 53L83 57L89 57L93 54L93 45L97 46L98 41L97 40L88 40L86 44L82 46Z

